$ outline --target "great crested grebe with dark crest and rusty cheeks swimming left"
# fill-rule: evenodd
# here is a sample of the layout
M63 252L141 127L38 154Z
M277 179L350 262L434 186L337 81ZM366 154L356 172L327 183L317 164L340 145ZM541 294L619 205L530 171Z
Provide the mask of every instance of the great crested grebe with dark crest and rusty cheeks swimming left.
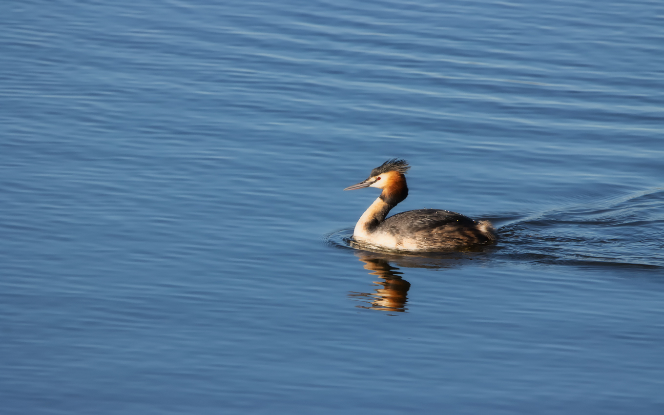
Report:
M479 222L463 214L440 209L418 209L385 218L408 197L408 162L390 159L371 171L369 179L343 190L377 187L382 193L355 225L357 242L404 251L432 251L485 244L495 240L488 220Z

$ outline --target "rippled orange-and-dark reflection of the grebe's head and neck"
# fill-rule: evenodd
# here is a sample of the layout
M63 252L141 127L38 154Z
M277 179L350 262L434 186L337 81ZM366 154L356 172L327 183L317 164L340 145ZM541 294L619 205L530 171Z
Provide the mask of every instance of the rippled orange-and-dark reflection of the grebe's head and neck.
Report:
M365 270L373 271L369 275L375 275L382 279L382 281L374 281L376 286L382 287L374 289L375 293L351 291L350 297L369 304L356 305L356 307L382 311L406 311L410 282L401 278L403 273L397 272L399 268L390 266L388 260L381 258L378 254L356 252L355 255L365 263Z

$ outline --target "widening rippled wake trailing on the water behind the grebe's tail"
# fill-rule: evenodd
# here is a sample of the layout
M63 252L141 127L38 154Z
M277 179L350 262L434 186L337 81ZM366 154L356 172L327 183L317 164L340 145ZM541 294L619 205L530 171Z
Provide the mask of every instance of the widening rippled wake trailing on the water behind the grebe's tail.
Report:
M500 256L664 271L664 190L552 210L500 229Z

